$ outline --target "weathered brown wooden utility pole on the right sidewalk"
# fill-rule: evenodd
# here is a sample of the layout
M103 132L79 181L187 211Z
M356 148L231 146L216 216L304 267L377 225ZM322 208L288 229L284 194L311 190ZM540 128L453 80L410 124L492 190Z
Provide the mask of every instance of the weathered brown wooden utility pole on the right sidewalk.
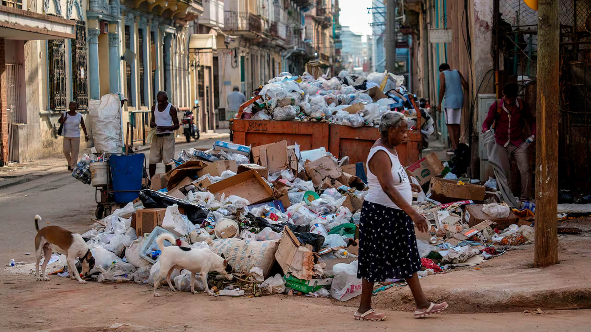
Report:
M558 0L538 2L534 265L558 262Z

